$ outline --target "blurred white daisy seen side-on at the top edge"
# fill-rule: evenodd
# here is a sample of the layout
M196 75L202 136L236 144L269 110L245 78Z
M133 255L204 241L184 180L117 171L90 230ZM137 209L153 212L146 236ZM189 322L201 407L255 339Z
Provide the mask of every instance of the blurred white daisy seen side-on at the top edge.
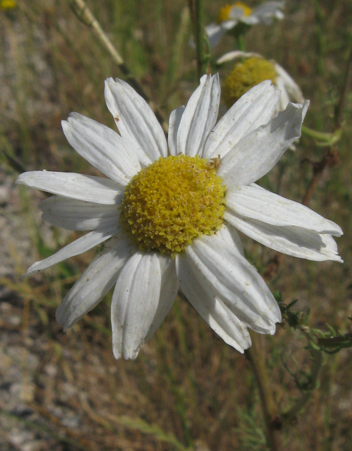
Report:
M264 2L253 10L242 2L225 5L220 9L217 22L205 27L210 47L215 47L239 22L247 25L270 25L274 18L283 19L285 16L281 10L284 5L285 2Z

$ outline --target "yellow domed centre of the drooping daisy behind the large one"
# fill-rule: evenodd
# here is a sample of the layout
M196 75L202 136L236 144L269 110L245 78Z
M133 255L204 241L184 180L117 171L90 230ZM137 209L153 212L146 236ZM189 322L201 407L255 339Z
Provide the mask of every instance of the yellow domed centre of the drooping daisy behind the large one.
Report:
M276 82L275 67L263 58L248 58L235 64L226 77L222 94L225 105L230 108L243 94L264 80Z

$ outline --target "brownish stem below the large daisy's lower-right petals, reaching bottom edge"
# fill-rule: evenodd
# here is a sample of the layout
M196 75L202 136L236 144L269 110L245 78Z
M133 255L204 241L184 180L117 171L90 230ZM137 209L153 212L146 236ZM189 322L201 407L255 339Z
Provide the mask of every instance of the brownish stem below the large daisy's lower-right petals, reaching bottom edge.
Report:
M252 347L246 351L246 357L251 363L253 375L259 390L268 446L270 451L282 451L283 448L280 438L282 421L270 385L265 353L261 343L262 337L258 334L253 334L251 338Z

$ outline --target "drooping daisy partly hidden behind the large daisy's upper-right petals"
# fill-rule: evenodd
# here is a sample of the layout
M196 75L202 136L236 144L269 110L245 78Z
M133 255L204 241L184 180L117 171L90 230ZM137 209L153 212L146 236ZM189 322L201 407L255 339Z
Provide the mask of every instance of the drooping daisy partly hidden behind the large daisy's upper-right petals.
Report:
M304 103L301 89L276 61L268 61L258 53L235 50L219 58L217 64L229 61L235 61L235 65L223 85L223 99L228 108L250 88L264 80L271 80L281 91L276 112L283 111L289 102Z

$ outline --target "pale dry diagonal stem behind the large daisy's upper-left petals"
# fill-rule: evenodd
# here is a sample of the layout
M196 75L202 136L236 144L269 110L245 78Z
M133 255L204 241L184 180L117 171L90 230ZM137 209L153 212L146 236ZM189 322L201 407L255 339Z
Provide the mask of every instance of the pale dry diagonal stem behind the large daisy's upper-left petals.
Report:
M160 125L162 126L163 130L167 131L167 122L165 121L162 113L160 110L153 104L153 102L150 100L150 98L147 96L146 92L142 88L142 86L137 82L137 80L134 78L131 71L128 69L126 64L124 63L121 55L118 53L104 30L101 28L99 22L95 19L93 16L93 13L90 11L90 9L87 7L84 0L72 0L71 1L72 7L74 12L76 13L76 16L83 22L85 25L87 25L89 28L91 28L95 34L95 36L98 38L102 46L108 51L110 56L112 57L112 60L114 63L117 64L123 75L125 76L128 83L134 88L135 91L139 95L143 97L144 100L149 104L150 108L154 111L155 116L157 120L159 121Z

